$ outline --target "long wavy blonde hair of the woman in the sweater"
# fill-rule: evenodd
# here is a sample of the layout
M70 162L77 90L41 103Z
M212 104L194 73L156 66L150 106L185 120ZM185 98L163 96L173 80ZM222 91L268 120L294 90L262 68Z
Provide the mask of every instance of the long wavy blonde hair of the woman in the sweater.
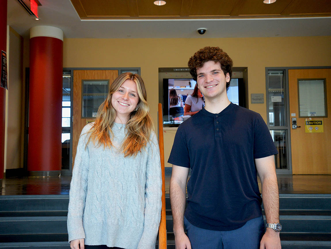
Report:
M144 81L138 74L130 72L122 73L111 84L106 100L100 105L98 114L93 127L90 129L90 136L87 144L92 141L94 145L111 148L113 146L112 138L114 136L112 127L116 117L116 110L112 105L112 96L118 91L119 87L125 80L133 80L136 83L139 102L137 110L130 114L130 118L126 123L126 135L124 142L119 148L124 157L135 156L141 149L144 148L150 140L152 129L154 129L153 121L149 115L149 105L147 104L146 89Z

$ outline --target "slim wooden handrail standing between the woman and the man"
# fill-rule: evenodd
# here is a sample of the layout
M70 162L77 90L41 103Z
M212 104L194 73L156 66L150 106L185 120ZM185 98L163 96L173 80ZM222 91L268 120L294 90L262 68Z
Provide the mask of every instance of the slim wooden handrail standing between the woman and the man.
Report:
M159 249L166 249L166 183L165 183L165 156L164 156L164 142L163 142L163 113L162 104L159 103L159 147L161 157L162 169L162 209L161 221L159 226Z

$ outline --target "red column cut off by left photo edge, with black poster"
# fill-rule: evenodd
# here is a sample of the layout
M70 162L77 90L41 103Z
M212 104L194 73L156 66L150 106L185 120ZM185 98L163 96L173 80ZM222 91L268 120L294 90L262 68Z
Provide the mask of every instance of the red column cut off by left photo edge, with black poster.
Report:
M7 0L0 0L0 52L7 51ZM0 54L1 56L1 54ZM1 71L1 70L0 70ZM5 159L5 105L6 89L0 87L0 183L2 187Z

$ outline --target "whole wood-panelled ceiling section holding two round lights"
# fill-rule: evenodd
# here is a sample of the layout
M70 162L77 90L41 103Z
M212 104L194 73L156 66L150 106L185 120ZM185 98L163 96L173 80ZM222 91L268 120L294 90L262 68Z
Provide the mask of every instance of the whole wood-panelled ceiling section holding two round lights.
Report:
M71 0L80 19L261 18L331 16L331 0Z

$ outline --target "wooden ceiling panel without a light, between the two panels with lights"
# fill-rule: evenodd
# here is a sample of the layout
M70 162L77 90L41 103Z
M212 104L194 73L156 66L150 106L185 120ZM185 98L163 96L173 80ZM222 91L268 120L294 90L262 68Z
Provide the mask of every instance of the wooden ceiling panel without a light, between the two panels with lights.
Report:
M229 16L237 0L193 0L190 16Z

